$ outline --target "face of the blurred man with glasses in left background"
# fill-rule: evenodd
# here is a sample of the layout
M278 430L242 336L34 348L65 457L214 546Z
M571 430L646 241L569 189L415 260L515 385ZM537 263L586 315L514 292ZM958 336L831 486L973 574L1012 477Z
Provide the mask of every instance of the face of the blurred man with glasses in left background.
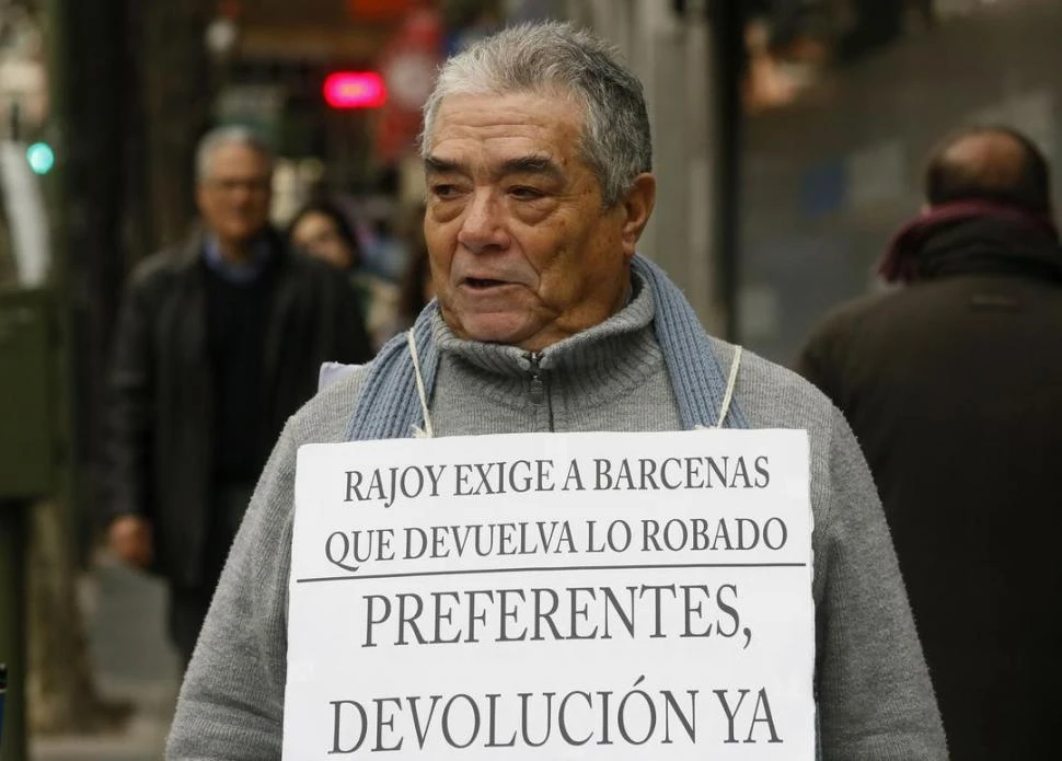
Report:
M240 143L222 143L209 157L196 186L199 214L222 243L241 245L269 220L269 161Z

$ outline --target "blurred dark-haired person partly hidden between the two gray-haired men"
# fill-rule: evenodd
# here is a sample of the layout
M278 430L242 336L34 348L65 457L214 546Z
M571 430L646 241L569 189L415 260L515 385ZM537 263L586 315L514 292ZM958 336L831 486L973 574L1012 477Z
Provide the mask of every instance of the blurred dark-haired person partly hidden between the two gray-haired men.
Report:
M292 218L288 235L299 251L347 275L358 295L372 349L378 350L391 335L397 288L362 267L361 244L347 216L331 201L311 201Z

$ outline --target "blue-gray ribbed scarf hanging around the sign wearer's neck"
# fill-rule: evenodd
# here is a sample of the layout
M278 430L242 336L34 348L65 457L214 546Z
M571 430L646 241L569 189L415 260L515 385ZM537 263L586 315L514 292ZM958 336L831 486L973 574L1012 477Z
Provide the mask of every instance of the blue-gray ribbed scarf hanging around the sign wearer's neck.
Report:
M688 429L714 426L724 407L727 382L712 350L712 342L682 291L660 267L640 256L632 261L633 272L651 288L656 314L653 330L663 354L679 415ZM424 391L431 399L439 349L431 336L431 310L425 309L413 325ZM549 351L549 349L546 349ZM370 441L409 436L423 425L417 391L417 369L406 338L392 338L370 366L350 425L348 441ZM729 403L724 425L747 428L736 402Z

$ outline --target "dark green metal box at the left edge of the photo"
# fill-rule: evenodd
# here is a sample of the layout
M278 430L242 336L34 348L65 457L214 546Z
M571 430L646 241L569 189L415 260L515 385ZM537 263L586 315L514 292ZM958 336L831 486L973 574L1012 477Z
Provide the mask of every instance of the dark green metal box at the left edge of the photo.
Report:
M46 290L0 290L0 503L51 491L56 351Z

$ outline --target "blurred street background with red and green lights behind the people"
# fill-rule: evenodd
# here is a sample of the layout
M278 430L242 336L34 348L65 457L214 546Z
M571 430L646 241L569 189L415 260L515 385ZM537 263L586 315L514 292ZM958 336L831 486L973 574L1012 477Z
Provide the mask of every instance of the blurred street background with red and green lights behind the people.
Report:
M322 195L344 209L385 331L423 245L436 66L547 18L611 39L646 85L642 251L711 331L783 364L881 288L943 134L1005 123L1062 147L1058 0L0 0L2 761L162 752L165 591L102 549L97 466L122 287L195 219L198 139L268 141L281 229Z

